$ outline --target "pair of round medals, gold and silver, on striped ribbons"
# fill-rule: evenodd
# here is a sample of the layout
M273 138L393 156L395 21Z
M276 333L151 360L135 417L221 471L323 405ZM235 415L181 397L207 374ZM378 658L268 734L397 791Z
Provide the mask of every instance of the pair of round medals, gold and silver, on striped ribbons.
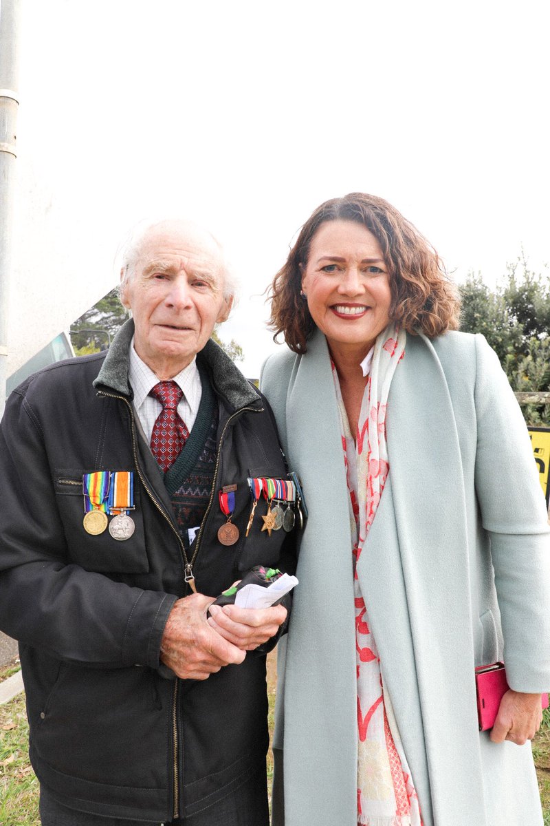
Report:
M109 527L113 539L123 542L134 533L134 473L130 471L96 471L82 477L84 496L84 530L97 536ZM109 521L109 516L113 519Z

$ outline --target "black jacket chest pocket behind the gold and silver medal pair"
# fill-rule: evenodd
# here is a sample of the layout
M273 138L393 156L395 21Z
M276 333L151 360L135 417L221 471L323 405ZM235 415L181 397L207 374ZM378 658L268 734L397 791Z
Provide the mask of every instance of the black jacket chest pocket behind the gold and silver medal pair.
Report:
M90 470L79 468L58 468L55 471L54 486L67 540L68 562L76 563L87 571L101 573L148 573L139 486L134 485L134 510L129 511L134 533L128 539L115 539L110 534L109 526L114 518L110 515L106 529L99 534L89 534L83 524L82 496L82 475L87 472Z

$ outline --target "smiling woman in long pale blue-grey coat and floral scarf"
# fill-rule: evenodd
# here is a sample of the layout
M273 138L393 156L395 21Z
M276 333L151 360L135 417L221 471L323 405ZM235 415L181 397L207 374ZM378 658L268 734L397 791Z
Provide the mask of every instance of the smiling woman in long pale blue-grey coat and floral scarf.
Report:
M274 826L541 826L546 503L496 354L455 331L421 233L361 192L313 212L272 298L289 349L261 387L309 513ZM480 733L474 667L504 656L510 690Z

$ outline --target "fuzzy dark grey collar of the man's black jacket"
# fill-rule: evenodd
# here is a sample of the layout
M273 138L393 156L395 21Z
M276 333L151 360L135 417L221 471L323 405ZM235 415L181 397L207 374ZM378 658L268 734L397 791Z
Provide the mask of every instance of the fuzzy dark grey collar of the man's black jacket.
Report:
M129 318L115 335L101 370L93 382L94 387L108 387L123 396L133 398L134 392L128 381L129 348L133 335L134 320ZM223 397L228 406L239 410L249 405L261 405L261 396L215 341L209 339L198 358L208 371L214 391Z

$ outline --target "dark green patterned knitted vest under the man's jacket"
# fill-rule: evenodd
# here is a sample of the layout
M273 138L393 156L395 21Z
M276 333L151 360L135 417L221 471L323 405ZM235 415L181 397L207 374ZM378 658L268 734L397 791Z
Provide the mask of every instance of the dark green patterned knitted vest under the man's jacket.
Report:
M216 464L218 405L208 374L200 366L199 373L202 395L195 424L176 462L164 476L177 527L186 545L187 529L198 527L206 512Z

